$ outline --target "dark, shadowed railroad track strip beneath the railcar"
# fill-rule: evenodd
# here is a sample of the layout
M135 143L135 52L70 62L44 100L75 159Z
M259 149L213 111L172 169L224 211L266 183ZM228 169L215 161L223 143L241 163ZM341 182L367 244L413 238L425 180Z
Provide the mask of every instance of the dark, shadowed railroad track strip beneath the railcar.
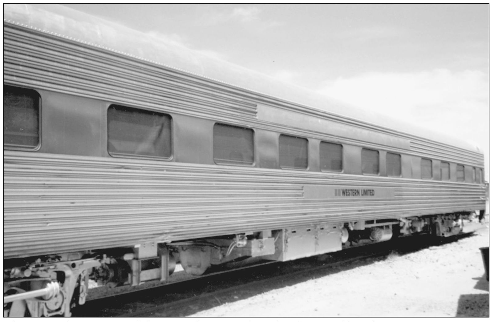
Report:
M276 288L471 236L403 237L289 262L270 262L88 301L73 317L183 317Z

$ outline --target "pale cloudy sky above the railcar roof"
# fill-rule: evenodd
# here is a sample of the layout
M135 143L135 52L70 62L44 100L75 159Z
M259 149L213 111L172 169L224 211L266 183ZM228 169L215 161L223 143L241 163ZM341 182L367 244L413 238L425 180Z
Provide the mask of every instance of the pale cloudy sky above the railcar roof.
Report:
M489 173L488 4L66 4L473 143Z

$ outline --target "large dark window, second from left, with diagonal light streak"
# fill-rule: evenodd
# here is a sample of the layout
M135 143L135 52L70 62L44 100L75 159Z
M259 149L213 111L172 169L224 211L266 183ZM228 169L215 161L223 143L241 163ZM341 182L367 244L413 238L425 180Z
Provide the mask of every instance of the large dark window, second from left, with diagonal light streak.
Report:
M171 157L171 117L112 105L108 109L108 152L112 155Z

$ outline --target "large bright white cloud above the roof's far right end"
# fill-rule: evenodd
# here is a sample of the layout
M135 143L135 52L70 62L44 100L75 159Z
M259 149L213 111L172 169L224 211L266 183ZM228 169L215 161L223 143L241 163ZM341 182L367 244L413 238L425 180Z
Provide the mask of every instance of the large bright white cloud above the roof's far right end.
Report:
M484 150L486 162L489 160L489 80L483 72L436 69L367 73L326 81L318 91L366 110L476 142Z

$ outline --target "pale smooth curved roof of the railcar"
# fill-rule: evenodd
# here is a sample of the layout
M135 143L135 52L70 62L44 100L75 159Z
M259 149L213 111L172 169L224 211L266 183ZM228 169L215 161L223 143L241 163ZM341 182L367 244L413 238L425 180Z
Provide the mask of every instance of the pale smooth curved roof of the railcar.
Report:
M89 14L54 4L4 4L4 22L104 48L172 69L275 97L331 114L479 152L475 145L341 103L317 92L283 83L256 71L209 57ZM399 107L397 107L398 109Z

